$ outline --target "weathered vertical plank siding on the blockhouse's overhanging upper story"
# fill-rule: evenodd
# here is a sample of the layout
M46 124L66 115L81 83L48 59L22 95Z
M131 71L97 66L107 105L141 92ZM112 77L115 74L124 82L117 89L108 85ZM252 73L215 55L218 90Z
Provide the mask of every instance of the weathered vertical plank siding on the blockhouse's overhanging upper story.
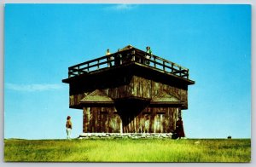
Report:
M71 85L71 87L76 87L76 85ZM72 88L71 88L72 89ZM79 92L74 94L74 92L70 92L69 96L69 106L78 106L79 101L84 98L84 94L88 95L91 91L87 92ZM185 106L188 106L188 89L186 88L178 88L176 85L168 85L164 83L154 82L152 80L148 80L145 78L134 76L131 79L131 83L126 85L121 85L116 88L107 88L102 89L102 91L111 97L113 100L119 98L126 97L138 97L151 99L155 95L161 94L162 92L166 92L169 95L173 95L177 97L180 101L185 102Z

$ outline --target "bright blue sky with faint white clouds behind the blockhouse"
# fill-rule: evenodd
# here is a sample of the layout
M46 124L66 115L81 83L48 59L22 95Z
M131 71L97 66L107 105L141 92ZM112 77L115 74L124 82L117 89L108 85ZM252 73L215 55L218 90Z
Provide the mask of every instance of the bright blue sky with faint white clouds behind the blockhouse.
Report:
M73 137L67 67L131 44L189 68L189 138L251 137L251 6L7 4L4 14L4 137Z

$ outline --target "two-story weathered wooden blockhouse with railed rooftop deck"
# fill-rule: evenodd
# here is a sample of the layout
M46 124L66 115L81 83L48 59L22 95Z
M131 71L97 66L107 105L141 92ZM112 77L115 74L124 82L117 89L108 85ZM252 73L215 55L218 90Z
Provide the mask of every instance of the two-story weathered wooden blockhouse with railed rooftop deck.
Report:
M69 107L84 133L172 133L188 109L189 69L131 45L68 67Z

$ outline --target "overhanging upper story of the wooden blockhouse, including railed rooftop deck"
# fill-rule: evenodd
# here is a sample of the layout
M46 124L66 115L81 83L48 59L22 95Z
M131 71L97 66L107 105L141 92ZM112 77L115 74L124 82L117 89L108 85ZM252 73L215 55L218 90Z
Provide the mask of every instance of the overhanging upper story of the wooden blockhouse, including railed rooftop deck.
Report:
M189 69L128 45L119 52L68 67L70 107L146 101L188 108Z

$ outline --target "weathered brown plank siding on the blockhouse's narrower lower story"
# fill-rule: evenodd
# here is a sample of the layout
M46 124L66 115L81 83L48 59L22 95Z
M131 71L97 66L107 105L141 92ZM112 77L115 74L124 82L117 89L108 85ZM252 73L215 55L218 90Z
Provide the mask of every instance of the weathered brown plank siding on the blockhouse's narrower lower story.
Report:
M135 118L122 120L115 107L84 107L84 133L170 133L175 129L177 107L146 107ZM129 124L123 124L122 122Z

